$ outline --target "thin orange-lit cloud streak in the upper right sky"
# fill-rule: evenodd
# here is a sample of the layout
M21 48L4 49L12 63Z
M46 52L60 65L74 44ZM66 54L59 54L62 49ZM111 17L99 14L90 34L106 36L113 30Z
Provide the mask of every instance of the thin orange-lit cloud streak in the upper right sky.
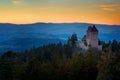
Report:
M99 8L104 11L117 11L119 10L120 6L117 4L112 5L99 5Z

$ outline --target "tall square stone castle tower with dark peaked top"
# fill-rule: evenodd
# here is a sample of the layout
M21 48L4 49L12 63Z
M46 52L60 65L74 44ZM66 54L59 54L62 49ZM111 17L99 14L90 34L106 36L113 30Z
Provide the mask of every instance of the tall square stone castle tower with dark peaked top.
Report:
M98 30L95 26L88 27L86 41L87 45L91 45L93 48L98 48Z

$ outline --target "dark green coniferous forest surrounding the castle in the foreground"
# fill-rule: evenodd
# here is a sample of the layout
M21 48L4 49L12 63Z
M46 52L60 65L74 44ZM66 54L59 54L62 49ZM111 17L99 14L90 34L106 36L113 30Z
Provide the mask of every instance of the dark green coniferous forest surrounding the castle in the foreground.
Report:
M0 80L120 80L120 42L77 52L73 34L67 44L49 44L0 56Z

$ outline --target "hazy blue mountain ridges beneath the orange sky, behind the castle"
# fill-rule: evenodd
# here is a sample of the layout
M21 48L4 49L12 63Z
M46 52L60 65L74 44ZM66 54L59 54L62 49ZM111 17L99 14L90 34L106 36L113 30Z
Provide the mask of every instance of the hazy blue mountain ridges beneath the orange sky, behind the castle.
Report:
M59 41L66 43L68 37L74 32L77 34L78 39L81 39L90 25L95 25L98 28L100 40L107 42L115 39L120 41L120 25L92 23L0 23L0 51L23 50L23 46L25 46L25 49L28 49L33 46L58 43Z

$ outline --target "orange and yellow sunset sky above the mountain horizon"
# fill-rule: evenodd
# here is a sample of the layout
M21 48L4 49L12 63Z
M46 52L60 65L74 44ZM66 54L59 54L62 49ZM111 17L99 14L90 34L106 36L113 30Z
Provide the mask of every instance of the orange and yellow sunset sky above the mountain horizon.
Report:
M120 25L120 0L0 0L0 23Z

